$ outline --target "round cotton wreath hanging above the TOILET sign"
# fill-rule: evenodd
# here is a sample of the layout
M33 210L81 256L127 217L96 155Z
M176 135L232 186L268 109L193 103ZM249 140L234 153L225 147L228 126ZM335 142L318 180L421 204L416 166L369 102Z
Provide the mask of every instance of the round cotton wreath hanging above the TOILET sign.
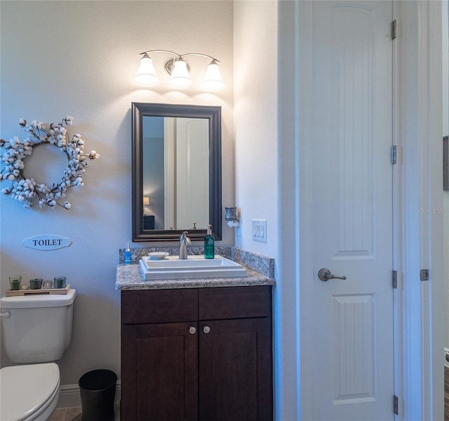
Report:
M4 167L0 171L0 181L11 181L11 186L1 189L4 195L10 195L13 199L23 202L23 207L30 208L33 200L39 199L40 207L64 207L70 209L69 202L62 205L58 203L65 197L67 188L83 186L83 174L86 171L88 160L95 160L100 154L91 150L88 155L84 155L84 141L81 134L74 134L71 139L67 134L65 126L72 125L73 117L67 116L59 124L43 124L34 120L27 124L27 120L19 119L19 124L27 132L27 138L23 141L18 136L13 136L9 141L0 139L0 147L6 151L0 157L0 162ZM67 168L59 183L47 186L37 183L34 179L26 179L23 174L25 168L25 157L31 155L33 148L43 144L55 145L67 155Z

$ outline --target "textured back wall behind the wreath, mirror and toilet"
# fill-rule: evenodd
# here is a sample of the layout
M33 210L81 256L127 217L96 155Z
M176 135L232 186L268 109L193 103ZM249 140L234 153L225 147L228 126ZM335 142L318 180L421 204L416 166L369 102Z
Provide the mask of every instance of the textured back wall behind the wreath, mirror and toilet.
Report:
M62 385L77 384L94 368L120 376L120 296L114 282L119 248L131 235L131 101L221 105L223 204L234 200L232 7L230 1L0 3L0 137L23 136L20 117L50 123L72 115L69 133L82 134L86 149L101 155L89 164L83 189L69 192L69 211L24 209L10 197L0 198L1 293L13 274L24 280L65 275L78 293L72 344L60 361ZM139 89L133 82L138 53L149 48L216 56L225 90L213 95L194 88L170 92L163 85ZM154 56L156 68L166 60ZM206 68L203 60L189 60L192 79L201 78L202 70L194 69ZM22 246L24 238L46 233L73 243L53 252ZM233 231L225 229L223 238L220 245L232 245ZM4 352L1 357L7 365Z

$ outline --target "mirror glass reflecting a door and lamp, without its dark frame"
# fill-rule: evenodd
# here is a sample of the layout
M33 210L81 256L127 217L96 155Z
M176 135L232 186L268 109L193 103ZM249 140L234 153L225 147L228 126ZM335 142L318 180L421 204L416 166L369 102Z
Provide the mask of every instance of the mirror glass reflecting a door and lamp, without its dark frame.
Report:
M144 230L206 229L209 224L209 122L142 119Z

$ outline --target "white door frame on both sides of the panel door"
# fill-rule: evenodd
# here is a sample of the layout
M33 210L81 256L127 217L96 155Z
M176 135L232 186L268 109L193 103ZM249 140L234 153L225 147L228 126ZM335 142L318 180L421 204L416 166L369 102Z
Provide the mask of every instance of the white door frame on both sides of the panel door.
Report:
M443 419L443 218L431 209L443 209L441 163L441 1L394 1L398 36L394 46L394 291L396 420ZM296 370L283 372L276 364L276 417L297 414L312 420L311 366L311 1L279 1L279 135L283 195L283 238L279 275L294 275L295 286L280 285L278 305L290 303L295 293ZM294 37L292 41L291 37ZM430 48L430 46L432 48ZM438 48L439 46L439 48ZM294 70L292 72L292 69ZM290 72L289 72L290 70ZM295 86L292 89L292 86ZM292 93L293 91L293 93ZM292 138L294 141L292 141ZM290 143L288 143L290 140ZM292 157L292 154L293 157ZM294 168L294 177L291 168ZM288 181L288 176L290 180ZM291 200L291 189L295 200ZM421 212L420 209L423 209ZM426 212L427 209L427 212ZM293 219L292 219L293 217ZM295 238L293 238L295 236ZM292 240L291 242L288 240ZM296 240L296 241L294 241ZM294 247L293 247L294 245ZM295 254L293 261L289 257ZM298 259L299 257L299 259ZM428 268L428 281L420 270ZM392 268L393 269L393 268ZM277 289L277 288L276 288ZM282 320L282 311L280 318ZM286 320L288 323L288 321ZM283 327L279 326L279 358L284 350ZM275 330L276 334L276 330ZM291 343L291 342L290 342ZM290 359L291 361L291 359ZM440 367L441 365L441 367ZM293 384L297 403L282 398L282 389ZM393 408L393 396L391 397ZM393 410L391 410L393 415Z

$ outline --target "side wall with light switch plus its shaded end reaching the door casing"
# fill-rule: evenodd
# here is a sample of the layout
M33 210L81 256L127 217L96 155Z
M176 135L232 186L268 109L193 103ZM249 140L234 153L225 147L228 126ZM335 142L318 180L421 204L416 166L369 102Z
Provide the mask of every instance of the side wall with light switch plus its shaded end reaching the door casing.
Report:
M290 131L295 121L295 3L234 1L236 205L241 207L241 237L237 234L236 244L275 258L276 420L300 417L296 158L294 129ZM252 219L267 220L266 243L252 240Z

